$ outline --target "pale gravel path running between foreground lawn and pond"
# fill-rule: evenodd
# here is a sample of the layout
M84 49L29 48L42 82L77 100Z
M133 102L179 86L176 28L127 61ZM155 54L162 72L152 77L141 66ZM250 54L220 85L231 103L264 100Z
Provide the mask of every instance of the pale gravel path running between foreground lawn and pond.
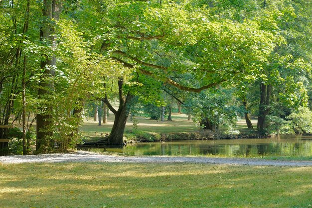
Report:
M257 166L312 166L312 161L275 161L245 158L208 158L208 157L124 157L109 156L78 151L72 154L43 154L26 156L0 156L0 164L18 163L56 163L56 162L127 162L127 163L211 163L228 165L257 165Z

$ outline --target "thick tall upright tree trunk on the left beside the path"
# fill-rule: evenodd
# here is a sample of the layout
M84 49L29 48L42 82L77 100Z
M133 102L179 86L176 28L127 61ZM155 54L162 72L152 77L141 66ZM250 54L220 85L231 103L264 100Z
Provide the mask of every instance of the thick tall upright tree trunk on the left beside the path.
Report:
M43 22L40 28L40 40L48 42L48 46L56 48L56 36L54 33L53 21L58 21L62 9L62 0L43 0ZM48 57L44 54L44 59L40 63L40 68L44 70L39 82L38 98L49 100L48 96L54 91L53 77L55 76L56 57ZM52 66L52 67L51 67ZM52 106L48 101L44 102L41 110L44 112L37 114L37 136L36 136L36 150L42 151L53 146L51 136L53 135L53 119Z

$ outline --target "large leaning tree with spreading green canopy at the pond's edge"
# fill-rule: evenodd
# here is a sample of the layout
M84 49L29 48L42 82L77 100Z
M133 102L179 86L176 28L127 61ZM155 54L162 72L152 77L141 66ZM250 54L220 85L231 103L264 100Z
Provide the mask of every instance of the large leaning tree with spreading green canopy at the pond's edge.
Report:
M280 35L263 30L259 21L232 20L197 1L110 1L98 9L92 15L94 25L100 24L102 54L183 91L254 79L282 43ZM184 73L192 77L185 85L175 78ZM123 144L122 135L110 143Z

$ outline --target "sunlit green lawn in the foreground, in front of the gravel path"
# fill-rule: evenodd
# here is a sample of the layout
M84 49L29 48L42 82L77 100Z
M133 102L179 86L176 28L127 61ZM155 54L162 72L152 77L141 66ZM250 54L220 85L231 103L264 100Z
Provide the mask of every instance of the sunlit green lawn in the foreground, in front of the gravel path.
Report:
M0 165L0 207L303 207L312 167L188 163Z

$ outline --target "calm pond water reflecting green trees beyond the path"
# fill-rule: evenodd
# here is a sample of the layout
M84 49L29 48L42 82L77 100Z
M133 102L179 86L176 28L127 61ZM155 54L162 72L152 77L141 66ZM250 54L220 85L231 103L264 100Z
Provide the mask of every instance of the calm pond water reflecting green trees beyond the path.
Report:
M104 152L104 148L91 148ZM265 139L225 139L166 141L128 144L106 148L119 155L223 155L223 156L312 156L312 137L276 137Z

